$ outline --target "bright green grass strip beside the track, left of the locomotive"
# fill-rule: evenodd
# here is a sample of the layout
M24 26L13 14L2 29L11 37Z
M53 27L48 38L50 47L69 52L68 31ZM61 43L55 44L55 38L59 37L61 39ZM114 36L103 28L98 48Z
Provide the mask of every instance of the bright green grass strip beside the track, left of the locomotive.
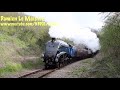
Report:
M16 72L20 72L21 70L32 70L41 68L43 66L43 62L40 59L32 60L32 61L26 61L22 63L15 63L15 62L9 62L7 61L4 65L4 67L0 68L0 77L4 77L8 74L13 74Z

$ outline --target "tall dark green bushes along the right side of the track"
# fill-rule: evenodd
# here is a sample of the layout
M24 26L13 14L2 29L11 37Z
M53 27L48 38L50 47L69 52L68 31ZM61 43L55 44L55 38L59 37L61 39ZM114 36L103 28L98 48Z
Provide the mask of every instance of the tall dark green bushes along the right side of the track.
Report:
M108 17L100 43L102 56L92 65L91 74L102 78L120 77L120 16Z

